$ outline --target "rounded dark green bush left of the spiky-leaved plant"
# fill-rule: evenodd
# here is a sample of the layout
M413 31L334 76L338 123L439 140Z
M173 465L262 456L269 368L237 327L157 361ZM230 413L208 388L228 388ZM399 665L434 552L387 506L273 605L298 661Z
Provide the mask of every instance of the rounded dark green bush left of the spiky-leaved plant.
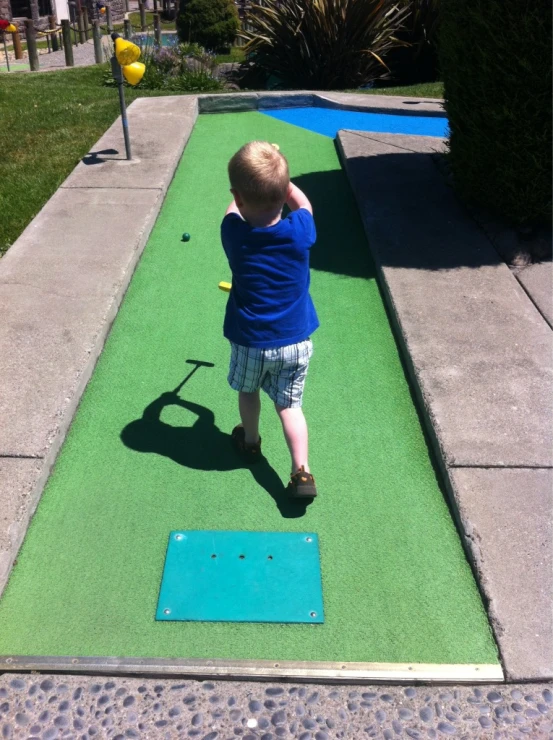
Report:
M232 0L181 0L177 31L183 42L224 50L233 43L238 28L238 11Z

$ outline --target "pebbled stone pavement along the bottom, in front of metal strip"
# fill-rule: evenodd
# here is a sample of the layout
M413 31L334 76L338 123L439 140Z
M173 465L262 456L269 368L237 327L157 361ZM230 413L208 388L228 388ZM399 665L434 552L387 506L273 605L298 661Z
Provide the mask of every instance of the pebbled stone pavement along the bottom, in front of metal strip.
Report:
M553 737L553 686L329 686L4 674L0 737Z

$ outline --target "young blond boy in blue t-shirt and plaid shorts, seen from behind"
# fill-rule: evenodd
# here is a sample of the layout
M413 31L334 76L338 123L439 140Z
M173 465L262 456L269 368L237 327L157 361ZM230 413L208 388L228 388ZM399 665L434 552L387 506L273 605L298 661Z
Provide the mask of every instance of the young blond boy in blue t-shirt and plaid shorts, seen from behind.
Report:
M234 200L221 224L232 271L224 335L231 343L228 381L242 423L232 439L248 462L261 459L262 388L275 404L292 457L291 496L314 498L302 396L311 334L319 326L309 295L309 250L316 232L311 203L290 182L288 162L263 141L243 146L228 166ZM291 213L282 218L287 204Z

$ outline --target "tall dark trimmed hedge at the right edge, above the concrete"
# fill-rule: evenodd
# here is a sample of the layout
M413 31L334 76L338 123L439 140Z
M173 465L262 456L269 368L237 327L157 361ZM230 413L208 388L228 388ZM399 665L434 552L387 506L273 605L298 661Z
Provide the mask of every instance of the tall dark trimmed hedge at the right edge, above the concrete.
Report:
M551 0L443 0L449 162L468 201L551 218Z

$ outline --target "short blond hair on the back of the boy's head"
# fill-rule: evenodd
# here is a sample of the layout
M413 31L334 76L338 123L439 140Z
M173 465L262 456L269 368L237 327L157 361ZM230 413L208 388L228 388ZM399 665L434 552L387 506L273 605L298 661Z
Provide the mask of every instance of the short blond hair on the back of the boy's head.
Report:
M250 141L230 160L231 187L251 206L283 206L290 187L286 158L266 141Z

